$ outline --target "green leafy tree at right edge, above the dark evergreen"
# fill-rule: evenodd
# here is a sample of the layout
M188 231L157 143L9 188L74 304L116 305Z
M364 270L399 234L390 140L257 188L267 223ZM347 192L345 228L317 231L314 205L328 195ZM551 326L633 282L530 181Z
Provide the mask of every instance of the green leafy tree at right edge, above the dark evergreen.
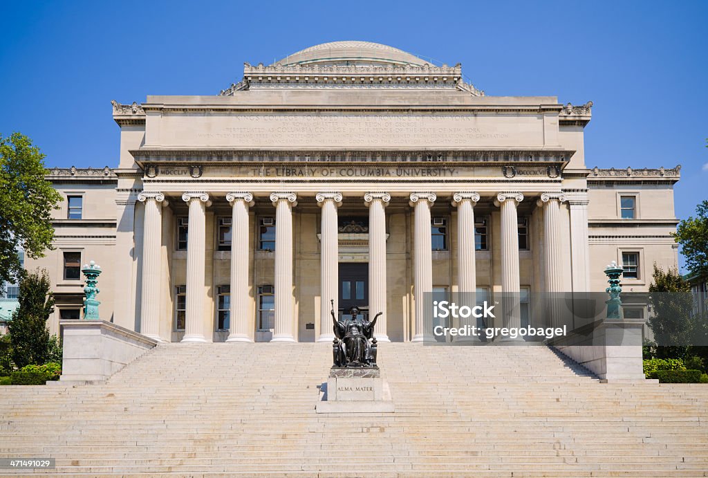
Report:
M708 278L708 200L696 206L696 217L678 223L674 239L681 246L691 275Z

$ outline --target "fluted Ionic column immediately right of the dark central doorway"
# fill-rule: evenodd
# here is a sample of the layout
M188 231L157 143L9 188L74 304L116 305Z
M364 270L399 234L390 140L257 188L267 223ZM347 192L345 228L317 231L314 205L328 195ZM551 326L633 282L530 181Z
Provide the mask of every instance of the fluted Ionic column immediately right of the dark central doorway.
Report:
M386 207L389 193L366 193L364 202L369 207L369 315L376 321L374 336L379 342L390 342L386 311Z

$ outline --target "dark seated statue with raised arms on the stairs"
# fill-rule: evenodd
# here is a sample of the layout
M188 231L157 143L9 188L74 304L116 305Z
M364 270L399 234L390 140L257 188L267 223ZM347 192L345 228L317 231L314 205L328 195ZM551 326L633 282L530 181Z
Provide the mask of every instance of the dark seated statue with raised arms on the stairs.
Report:
M334 301L331 301L332 305ZM333 358L335 367L377 367L377 341L374 326L382 312L374 320L365 320L359 307L349 309L350 319L337 320L334 307L331 310L334 324Z

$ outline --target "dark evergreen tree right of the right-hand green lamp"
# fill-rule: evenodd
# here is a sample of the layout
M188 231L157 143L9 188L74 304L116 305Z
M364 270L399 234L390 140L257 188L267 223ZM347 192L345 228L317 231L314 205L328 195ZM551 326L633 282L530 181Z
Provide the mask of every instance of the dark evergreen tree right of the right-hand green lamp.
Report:
M651 317L647 323L657 344L657 357L683 358L690 346L703 345L705 319L692 313L691 288L677 268L664 272L654 263L649 303Z

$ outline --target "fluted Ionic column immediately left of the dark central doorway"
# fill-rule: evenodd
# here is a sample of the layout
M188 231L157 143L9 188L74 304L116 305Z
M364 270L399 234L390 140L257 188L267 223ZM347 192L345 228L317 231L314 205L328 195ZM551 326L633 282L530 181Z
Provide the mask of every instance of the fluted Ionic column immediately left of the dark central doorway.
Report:
M331 342L334 338L330 310L339 309L339 239L337 207L342 204L341 193L317 193L317 203L322 208L320 245L320 326L318 342ZM278 222L276 221L276 224ZM277 229L276 229L277 230ZM278 242L275 243L278 245ZM334 305L330 302L334 301Z

